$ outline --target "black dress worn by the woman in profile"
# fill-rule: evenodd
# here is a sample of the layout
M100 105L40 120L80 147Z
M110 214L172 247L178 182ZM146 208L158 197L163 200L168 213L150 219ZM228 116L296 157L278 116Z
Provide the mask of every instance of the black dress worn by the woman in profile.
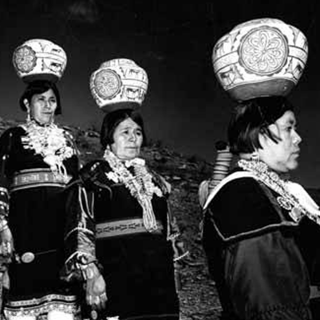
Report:
M311 319L301 223L257 180L229 181L206 208L203 245L224 319ZM231 200L230 200L231 199Z

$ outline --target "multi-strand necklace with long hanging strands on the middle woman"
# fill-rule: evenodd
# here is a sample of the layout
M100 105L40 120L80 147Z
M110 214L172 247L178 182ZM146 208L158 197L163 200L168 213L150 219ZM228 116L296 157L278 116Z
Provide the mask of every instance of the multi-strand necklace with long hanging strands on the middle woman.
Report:
M107 172L108 179L123 183L129 189L143 209L143 224L149 231L157 230L156 218L152 209L151 199L154 194L161 197L162 191L154 185L152 175L148 172L145 161L141 158L121 161L114 153L106 149L103 158L112 171ZM134 174L128 168L132 167Z

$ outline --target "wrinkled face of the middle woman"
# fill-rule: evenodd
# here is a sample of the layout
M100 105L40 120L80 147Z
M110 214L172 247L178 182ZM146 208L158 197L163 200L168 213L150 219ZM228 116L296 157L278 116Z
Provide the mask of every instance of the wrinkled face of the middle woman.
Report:
M142 129L131 118L127 118L116 127L113 140L111 151L119 159L133 159L140 154L143 141Z

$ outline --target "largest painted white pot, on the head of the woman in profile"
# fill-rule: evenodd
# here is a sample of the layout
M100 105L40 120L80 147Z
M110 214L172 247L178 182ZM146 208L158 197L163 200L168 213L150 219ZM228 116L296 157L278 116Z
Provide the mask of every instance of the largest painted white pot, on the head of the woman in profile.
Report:
M238 101L286 96L299 81L308 58L308 42L297 28L277 19L237 25L215 44L214 72Z

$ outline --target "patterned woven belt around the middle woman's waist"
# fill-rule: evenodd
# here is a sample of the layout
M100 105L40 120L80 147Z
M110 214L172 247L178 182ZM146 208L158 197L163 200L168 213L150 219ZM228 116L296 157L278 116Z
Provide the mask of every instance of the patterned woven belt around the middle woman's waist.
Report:
M157 230L152 233L161 234L163 226L161 221L157 220ZM131 235L134 233L148 233L143 225L142 219L117 220L96 225L96 238L103 239L115 236Z

